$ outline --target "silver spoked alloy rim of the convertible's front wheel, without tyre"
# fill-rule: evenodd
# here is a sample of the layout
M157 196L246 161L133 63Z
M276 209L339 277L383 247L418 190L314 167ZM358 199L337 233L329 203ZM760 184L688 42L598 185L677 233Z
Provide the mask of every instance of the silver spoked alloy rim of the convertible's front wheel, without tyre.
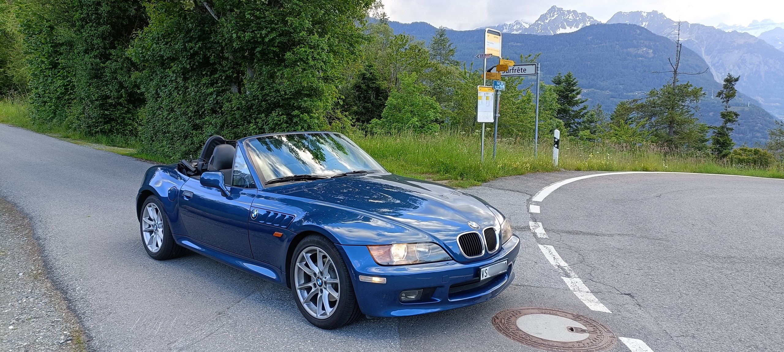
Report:
M309 246L299 252L294 281L297 299L310 315L326 319L335 313L340 282L335 262L324 250Z

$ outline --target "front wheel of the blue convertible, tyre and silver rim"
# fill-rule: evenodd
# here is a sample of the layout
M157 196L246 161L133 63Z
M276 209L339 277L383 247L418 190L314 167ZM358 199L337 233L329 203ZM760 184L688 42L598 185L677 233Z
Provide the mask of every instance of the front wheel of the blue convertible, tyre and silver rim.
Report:
M343 257L321 235L299 242L292 256L290 282L299 311L321 329L337 329L361 316Z

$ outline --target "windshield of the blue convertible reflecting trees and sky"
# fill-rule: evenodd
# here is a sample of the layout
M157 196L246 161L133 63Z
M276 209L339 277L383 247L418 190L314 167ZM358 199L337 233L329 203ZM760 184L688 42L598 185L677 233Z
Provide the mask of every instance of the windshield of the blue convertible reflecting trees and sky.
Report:
M334 176L350 171L386 172L349 138L336 133L297 133L252 138L248 156L265 180L299 174Z

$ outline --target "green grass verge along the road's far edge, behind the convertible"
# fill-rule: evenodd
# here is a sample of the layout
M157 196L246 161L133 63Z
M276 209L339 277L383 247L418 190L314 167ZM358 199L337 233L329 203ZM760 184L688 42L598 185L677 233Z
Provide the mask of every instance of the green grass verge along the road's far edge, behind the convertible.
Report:
M138 138L118 135L84 135L63 126L34 124L22 102L0 101L0 123L11 124L94 149L165 163L161 156L138 153ZM552 163L550 136L540 143L534 157L533 143L503 139L492 157L492 138L485 141L485 161L480 161L481 139L476 135L442 132L436 135L351 135L358 145L387 170L413 178L445 181L455 187L481 185L495 178L530 172L578 171L677 171L704 174L739 174L784 178L784 166L768 169L729 167L711 156L668 153L655 146L584 143L561 139L558 166Z

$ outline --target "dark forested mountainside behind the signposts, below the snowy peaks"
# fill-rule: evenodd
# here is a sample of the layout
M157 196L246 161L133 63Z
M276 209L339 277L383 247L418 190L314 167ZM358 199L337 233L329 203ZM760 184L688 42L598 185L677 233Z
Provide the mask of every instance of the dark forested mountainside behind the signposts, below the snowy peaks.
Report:
M427 40L436 31L427 23L390 22L390 26L398 33L405 32L420 40ZM481 68L482 60L474 56L482 51L482 30L447 31L447 35L456 45L456 59ZM674 56L675 43L643 27L621 23L593 24L566 34L503 34L503 56L517 60L520 55L537 52L542 53L538 61L542 63L546 81L559 72L572 71L580 81L583 95L590 99L588 104L601 104L604 109L612 110L618 102L641 98L671 79L672 74L656 72L672 70L667 59ZM699 73L707 68L699 55L683 49L681 72ZM722 108L711 93L720 90L721 84L714 81L710 71L684 76L683 80L704 88L709 95L699 104L700 120L720 124ZM775 117L754 105L742 91L732 105L741 112L733 140L750 145L767 140L768 129L775 127Z

